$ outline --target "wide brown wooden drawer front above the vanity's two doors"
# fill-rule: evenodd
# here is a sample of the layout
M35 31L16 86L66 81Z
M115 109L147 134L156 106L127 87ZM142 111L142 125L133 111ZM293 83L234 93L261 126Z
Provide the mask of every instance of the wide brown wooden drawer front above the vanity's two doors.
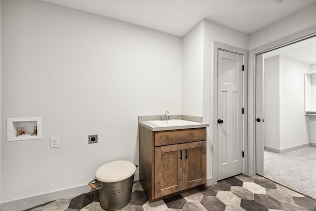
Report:
M155 146L206 140L206 128L155 133Z

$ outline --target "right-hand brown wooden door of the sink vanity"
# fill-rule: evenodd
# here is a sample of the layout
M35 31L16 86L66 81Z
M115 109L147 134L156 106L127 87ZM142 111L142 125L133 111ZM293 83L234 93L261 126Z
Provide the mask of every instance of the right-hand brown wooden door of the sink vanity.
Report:
M206 183L206 141L183 144L183 189Z

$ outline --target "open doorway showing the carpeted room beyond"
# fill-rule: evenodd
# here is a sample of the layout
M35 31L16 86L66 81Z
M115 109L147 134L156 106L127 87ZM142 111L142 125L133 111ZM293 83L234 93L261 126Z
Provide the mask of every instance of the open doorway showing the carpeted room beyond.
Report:
M257 84L262 122L256 124L256 153L263 158L257 173L312 198L316 198L315 55L316 36L264 52L262 73L256 77L262 82L262 90Z

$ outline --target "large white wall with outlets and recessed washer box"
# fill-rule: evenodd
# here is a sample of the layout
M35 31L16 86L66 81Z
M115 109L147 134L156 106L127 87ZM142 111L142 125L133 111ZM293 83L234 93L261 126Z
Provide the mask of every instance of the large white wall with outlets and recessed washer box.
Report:
M181 38L40 0L3 1L3 117L42 117L42 139L6 142L2 202L85 185L138 163L138 115L181 114ZM87 143L90 134L99 143ZM59 148L50 148L59 137Z

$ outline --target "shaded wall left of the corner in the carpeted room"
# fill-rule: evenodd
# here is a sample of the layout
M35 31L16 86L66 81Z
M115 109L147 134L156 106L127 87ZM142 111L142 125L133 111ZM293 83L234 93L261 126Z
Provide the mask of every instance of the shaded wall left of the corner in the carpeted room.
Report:
M279 56L264 60L264 146L280 149Z

